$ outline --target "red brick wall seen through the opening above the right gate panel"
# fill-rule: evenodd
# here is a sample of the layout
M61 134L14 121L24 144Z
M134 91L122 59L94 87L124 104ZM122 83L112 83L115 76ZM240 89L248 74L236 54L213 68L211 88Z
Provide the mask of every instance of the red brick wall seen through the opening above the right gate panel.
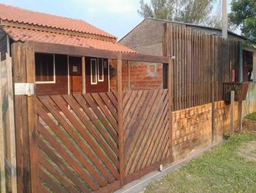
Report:
M130 78L129 78L130 71ZM110 91L116 91L116 60L109 60ZM163 65L157 63L142 63L123 61L122 86L124 90L162 89Z

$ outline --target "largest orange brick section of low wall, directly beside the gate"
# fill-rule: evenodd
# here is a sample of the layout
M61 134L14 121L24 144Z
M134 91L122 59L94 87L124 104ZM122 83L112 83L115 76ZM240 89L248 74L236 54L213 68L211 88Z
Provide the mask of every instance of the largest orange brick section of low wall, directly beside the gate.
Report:
M211 143L211 104L174 111L172 116L174 160Z

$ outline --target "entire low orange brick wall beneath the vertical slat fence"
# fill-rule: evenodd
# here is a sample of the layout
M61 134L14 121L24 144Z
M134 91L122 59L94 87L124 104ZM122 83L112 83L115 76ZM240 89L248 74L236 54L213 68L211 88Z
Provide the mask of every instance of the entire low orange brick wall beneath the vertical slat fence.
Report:
M234 130L238 130L238 105L234 105ZM175 160L189 153L202 150L212 141L212 105L205 104L189 109L174 111L173 156ZM214 143L223 139L230 131L230 104L215 103Z

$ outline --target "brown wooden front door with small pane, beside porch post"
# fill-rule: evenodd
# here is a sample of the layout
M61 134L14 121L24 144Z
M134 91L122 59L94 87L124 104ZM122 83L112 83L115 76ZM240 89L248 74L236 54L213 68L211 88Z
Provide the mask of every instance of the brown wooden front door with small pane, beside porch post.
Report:
M82 58L76 56L69 56L68 59L70 94L81 94L83 91Z

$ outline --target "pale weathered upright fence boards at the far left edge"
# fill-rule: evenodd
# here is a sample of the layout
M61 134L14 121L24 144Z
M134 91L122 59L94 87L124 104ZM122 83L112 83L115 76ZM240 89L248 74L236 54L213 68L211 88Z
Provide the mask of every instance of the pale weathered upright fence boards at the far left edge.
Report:
M0 179L1 192L17 192L12 61L0 62Z

